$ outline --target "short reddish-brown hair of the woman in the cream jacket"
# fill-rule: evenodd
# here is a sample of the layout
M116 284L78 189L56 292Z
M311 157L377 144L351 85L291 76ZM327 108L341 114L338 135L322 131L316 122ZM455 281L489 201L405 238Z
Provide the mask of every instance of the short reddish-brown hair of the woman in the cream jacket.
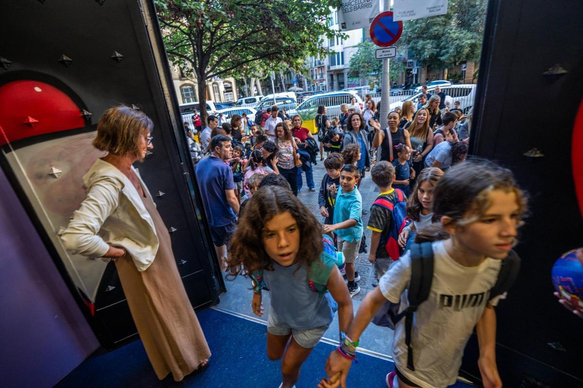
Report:
M99 123L93 147L115 155L141 156L140 137L147 136L154 124L139 109L119 105L107 109Z

